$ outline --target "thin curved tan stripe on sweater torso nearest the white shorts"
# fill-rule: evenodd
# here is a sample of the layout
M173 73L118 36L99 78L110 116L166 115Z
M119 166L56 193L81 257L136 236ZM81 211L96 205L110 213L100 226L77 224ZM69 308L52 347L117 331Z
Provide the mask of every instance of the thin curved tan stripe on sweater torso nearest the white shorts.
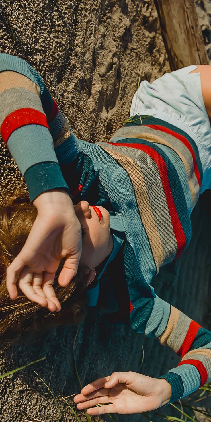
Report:
M197 192L195 190L195 187L194 187L194 184L192 182L191 175L190 175L190 166L189 166L186 158L184 157L184 155L181 154L181 152L179 152L176 148L174 148L172 144L170 144L167 141L165 141L164 139L160 138L160 136L151 135L150 133L140 133L140 134L136 133L135 135L127 135L127 138L138 138L138 139L143 139L144 141L156 142L156 143L160 143L162 145L169 146L171 149L173 149L179 155L179 157L181 158L181 160L184 164L184 167L185 167L185 170L186 170L186 173L187 173L190 193L191 193L191 196L192 196L192 201L193 201L193 204L195 205Z

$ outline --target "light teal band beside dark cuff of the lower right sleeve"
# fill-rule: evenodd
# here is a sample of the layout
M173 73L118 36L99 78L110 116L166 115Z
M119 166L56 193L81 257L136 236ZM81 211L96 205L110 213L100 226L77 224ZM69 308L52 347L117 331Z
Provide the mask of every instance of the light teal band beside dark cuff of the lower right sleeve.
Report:
M170 369L169 372L177 373L181 376L184 385L183 397L200 387L200 373L194 365L179 365L177 368Z

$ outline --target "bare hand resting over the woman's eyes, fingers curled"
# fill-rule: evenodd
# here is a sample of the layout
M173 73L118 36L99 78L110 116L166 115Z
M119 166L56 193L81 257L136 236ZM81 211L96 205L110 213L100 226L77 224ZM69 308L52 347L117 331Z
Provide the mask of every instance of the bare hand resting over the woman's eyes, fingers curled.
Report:
M29 300L49 309L60 311L53 282L60 264L66 257L59 284L67 286L77 273L81 257L81 225L67 192L43 192L33 202L37 217L27 240L7 268L6 286L11 299L18 295L16 283Z

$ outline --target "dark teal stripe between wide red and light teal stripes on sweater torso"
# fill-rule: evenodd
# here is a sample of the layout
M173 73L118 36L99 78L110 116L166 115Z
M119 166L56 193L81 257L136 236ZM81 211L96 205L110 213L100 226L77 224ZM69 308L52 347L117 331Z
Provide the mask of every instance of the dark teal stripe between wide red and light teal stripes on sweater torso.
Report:
M119 143L122 143L122 142L118 141L116 142L116 145L118 145ZM137 138L127 138L127 140L124 140L124 143L137 143L137 144L149 146L152 150L156 151L160 155L160 157L162 157L162 159L165 161L166 168L167 168L168 181L170 184L170 189L171 189L174 205L175 205L179 220L181 222L184 235L186 237L185 247L187 247L191 238L191 222L190 222L190 216L189 216L189 212L187 208L184 191L182 189L181 181L179 179L178 173L173 163L165 154L165 152L162 151L162 149L160 148L160 145L158 147L155 144L152 145L152 143L149 141L144 141L143 139L137 139Z

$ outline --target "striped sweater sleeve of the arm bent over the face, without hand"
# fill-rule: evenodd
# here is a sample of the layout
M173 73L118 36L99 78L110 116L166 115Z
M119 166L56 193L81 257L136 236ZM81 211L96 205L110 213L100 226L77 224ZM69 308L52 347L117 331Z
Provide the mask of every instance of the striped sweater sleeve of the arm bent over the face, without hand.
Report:
M0 133L26 181L31 202L65 189L59 157L76 159L80 146L39 73L27 62L0 54ZM67 151L66 151L66 150Z

